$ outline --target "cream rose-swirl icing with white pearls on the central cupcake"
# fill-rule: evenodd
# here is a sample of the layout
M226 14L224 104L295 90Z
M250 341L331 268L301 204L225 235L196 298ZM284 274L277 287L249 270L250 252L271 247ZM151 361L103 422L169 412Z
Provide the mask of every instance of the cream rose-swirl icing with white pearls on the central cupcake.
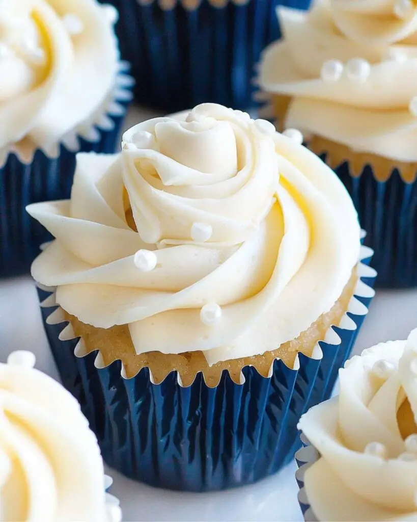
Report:
M338 300L360 230L345 188L270 123L221 105L155 118L121 155L79 155L70 201L29 213L55 236L32 265L56 301L137 353L246 357Z

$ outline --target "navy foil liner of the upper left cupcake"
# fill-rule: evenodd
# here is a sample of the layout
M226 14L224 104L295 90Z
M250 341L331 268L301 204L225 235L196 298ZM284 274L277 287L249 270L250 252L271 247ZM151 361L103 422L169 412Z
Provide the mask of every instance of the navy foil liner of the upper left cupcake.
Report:
M71 194L77 152L113 153L121 125L132 99L130 66L120 64L116 87L106 104L106 114L66 137L59 155L50 157L36 150L25 163L9 153L0 166L0 277L28 272L39 254L39 245L52 238L40 223L31 219L26 206L40 201L67 199Z

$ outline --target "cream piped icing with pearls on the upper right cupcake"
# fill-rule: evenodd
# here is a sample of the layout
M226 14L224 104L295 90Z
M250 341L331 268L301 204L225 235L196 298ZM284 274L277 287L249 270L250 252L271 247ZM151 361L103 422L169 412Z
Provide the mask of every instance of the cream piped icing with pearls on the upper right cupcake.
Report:
M278 16L284 37L264 52L260 84L291 97L285 125L356 151L417 161L412 2L318 0L308 13L279 8Z

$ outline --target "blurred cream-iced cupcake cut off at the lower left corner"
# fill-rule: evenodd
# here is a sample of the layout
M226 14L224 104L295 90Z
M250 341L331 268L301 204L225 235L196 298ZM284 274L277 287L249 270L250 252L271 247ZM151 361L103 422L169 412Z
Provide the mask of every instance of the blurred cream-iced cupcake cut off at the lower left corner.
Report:
M5 522L120 522L94 434L77 401L34 370L31 352L0 364L0 517Z

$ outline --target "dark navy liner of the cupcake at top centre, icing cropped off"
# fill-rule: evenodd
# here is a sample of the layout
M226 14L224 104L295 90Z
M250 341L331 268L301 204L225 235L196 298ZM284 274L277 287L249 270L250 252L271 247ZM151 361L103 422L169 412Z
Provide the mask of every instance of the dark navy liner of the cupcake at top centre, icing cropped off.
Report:
M167 112L205 102L250 108L253 67L265 46L280 37L276 7L310 4L201 0L185 7L191 2L173 0L163 9L163 0L101 1L119 10L116 31L137 80L137 101Z

